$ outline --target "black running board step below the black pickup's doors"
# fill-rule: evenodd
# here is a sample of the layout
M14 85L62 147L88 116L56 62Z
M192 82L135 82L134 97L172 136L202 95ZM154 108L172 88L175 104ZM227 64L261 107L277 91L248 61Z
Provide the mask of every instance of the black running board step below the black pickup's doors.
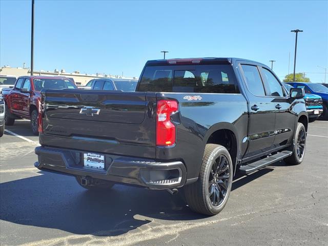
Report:
M269 166L272 163L275 163L281 159L291 156L292 154L293 154L292 151L286 151L286 150L278 152L277 154L270 155L267 158L257 160L253 163L250 163L249 165L241 166L239 168L239 172L241 174L253 173L256 170Z

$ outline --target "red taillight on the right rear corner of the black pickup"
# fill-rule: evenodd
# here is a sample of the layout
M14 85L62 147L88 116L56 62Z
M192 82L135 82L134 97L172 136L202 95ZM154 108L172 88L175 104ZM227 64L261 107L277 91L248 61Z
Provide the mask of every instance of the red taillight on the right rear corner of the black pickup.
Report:
M171 121L172 113L178 111L174 100L157 101L156 145L172 146L175 144L175 125Z

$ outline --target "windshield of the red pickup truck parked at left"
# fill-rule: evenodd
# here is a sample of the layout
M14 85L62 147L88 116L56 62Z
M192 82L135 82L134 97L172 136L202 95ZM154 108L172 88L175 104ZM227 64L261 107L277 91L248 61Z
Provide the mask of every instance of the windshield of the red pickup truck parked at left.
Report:
M69 79L34 78L33 83L36 91L42 89L76 89L76 86Z

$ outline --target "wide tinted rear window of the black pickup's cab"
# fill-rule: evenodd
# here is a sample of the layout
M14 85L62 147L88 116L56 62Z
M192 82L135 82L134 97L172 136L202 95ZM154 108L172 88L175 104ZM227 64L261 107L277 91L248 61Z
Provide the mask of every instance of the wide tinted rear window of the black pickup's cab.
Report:
M138 91L239 93L231 65L146 67Z

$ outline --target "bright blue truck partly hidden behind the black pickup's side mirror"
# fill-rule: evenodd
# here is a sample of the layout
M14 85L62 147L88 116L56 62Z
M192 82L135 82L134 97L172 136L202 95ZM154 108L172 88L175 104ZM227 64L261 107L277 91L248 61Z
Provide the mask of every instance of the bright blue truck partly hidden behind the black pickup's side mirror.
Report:
M294 88L290 83L283 83L283 85L288 91L290 91L291 88ZM309 121L315 121L323 113L321 96L305 93L303 98L305 101L306 112L308 112L309 115Z

